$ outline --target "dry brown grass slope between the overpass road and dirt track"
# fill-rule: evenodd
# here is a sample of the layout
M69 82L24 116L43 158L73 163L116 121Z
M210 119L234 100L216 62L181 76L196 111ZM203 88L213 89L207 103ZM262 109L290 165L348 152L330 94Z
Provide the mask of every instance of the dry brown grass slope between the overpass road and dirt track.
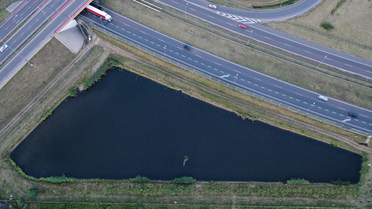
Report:
M25 65L10 81L0 89L0 129L4 127L17 112L32 101L61 69L75 57L57 39L48 42L30 62ZM56 59L64 58L64 59ZM11 111L9 111L11 110Z

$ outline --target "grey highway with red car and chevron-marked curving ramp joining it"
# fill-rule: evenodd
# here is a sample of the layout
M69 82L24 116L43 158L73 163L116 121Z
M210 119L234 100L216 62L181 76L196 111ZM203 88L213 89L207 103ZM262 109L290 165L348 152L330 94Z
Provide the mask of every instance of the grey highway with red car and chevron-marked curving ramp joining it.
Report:
M308 42L306 40L299 39L297 37L257 24L261 21L276 20L275 18L286 19L297 16L300 14L300 12L307 11L311 9L311 7L314 7L319 1L315 2L305 0L298 2L294 7L286 7L284 9L263 12L242 11L222 6L218 6L217 9L212 9L208 7L208 2L200 0L157 1L183 13L185 13L186 10L186 15L195 16L201 20L237 33L241 36L245 36L307 59L311 59L319 64L332 66L344 72L349 72L351 74L372 79L371 61L326 48L324 46L320 46L315 43ZM296 8L296 10L294 8ZM225 13L227 11L230 13ZM242 16L239 16L238 14ZM264 17L266 15L268 15L268 17L265 19ZM250 16L260 19L252 19ZM248 28L243 29L239 27L239 23L246 24Z

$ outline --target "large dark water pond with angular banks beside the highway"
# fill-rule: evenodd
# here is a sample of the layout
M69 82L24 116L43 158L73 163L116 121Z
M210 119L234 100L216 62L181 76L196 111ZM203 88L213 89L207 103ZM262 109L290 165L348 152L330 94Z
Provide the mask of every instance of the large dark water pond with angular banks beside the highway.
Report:
M262 182L356 183L362 161L118 69L65 99L11 157L34 177Z

